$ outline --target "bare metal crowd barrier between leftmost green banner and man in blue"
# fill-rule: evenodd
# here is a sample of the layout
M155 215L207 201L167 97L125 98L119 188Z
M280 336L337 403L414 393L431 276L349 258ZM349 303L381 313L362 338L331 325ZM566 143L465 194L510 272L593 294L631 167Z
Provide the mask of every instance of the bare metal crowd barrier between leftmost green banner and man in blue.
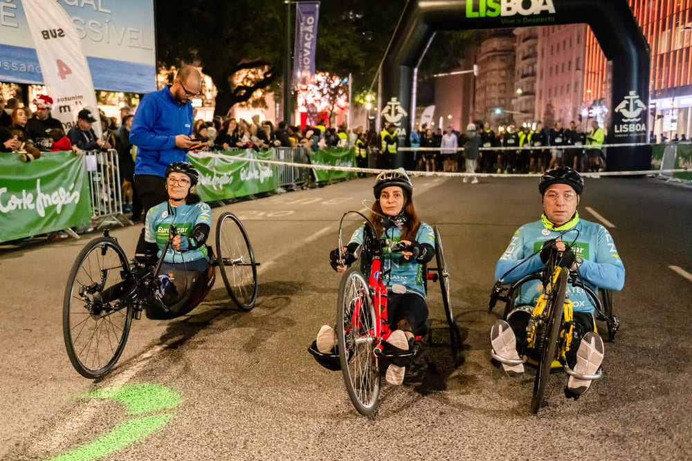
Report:
M100 220L98 227L132 224L122 214L122 181L118 151L84 151L91 191L91 220Z

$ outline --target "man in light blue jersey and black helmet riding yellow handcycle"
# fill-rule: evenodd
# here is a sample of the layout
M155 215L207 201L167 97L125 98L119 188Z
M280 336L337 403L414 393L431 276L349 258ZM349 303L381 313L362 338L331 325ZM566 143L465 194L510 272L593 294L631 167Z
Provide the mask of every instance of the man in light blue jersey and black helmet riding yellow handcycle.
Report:
M584 179L569 167L552 169L540 178L538 191L543 216L514 233L509 247L495 265L496 280L503 278L504 283L513 283L540 271L556 247L562 252L561 265L578 271L590 288L621 290L625 267L612 236L602 225L581 219L576 211L583 189ZM531 286L522 287L517 307L509 312L507 321L498 320L493 325L491 344L500 357L519 359L522 355L527 325L541 293L539 283L527 282ZM567 295L574 304L574 330L567 351L567 364L580 375L594 375L603 360L603 340L596 332L594 305L582 288L568 285ZM502 366L510 376L524 371L523 364ZM590 384L590 380L570 376L565 395L579 397L588 391Z

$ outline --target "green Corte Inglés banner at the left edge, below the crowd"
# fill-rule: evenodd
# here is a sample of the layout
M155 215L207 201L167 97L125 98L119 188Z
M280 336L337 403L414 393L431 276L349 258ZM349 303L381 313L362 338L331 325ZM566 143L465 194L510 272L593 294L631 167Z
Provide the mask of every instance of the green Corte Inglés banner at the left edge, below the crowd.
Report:
M84 157L46 152L33 162L0 153L0 242L89 223Z

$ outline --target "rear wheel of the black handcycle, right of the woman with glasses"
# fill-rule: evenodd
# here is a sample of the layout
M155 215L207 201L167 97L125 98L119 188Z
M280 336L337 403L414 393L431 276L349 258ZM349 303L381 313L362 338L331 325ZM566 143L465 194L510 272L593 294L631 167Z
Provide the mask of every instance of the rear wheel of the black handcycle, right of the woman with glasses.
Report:
M255 254L245 228L230 211L217 221L216 244L221 279L228 294L239 308L251 310L257 300Z

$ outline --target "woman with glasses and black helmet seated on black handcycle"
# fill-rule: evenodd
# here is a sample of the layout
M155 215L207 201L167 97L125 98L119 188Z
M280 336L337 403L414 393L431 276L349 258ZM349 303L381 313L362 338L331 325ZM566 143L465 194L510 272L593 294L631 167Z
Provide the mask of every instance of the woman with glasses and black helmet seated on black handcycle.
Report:
M172 305L192 288L192 282L199 279L197 275L209 268L206 241L212 212L209 205L194 194L199 173L192 164L172 163L164 174L168 200L147 213L145 232L140 236L135 258L149 265L156 263L172 238L159 270L160 286L156 292L165 305ZM147 310L147 316L152 317L152 312Z

